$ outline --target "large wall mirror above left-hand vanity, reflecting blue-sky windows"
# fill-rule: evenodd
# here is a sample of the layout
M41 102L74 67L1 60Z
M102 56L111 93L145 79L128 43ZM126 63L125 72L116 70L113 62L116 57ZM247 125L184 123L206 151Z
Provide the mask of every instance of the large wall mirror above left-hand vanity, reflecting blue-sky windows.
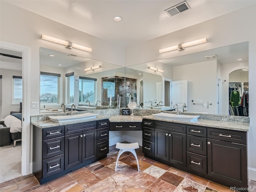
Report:
M125 96L122 66L41 47L40 72L40 113L54 112L62 103L80 110L117 107L117 95Z

